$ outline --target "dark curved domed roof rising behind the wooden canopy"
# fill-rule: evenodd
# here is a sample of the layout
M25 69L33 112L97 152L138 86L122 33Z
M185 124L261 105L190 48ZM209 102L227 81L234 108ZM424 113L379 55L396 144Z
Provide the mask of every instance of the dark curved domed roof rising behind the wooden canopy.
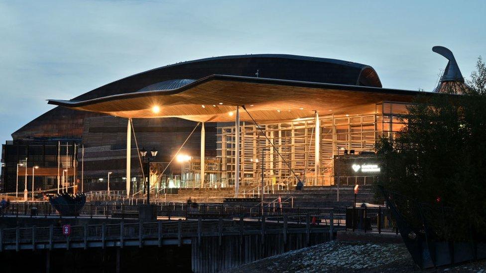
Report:
M202 79L211 75L233 75L316 83L381 87L370 66L336 59L286 54L234 55L199 59L137 73L86 92L76 100L131 93L174 79Z

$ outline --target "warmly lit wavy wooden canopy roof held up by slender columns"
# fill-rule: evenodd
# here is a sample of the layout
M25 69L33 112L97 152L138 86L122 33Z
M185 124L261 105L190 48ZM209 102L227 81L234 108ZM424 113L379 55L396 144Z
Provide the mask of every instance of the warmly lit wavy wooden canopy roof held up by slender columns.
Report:
M120 117L179 117L202 122L234 121L244 105L258 121L321 114L374 113L381 101L410 102L419 91L347 86L228 75L212 75L173 90L133 92L96 99L55 100L49 104ZM154 112L153 107L159 111ZM241 121L251 118L241 111Z

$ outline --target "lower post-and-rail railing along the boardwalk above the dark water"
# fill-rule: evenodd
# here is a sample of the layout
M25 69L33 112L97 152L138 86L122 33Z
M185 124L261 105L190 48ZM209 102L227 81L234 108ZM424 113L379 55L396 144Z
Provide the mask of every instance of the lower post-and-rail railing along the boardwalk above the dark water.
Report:
M92 248L124 246L159 246L191 244L192 238L206 236L235 236L252 234L329 233L330 227L311 223L309 216L303 224L283 216L278 223L274 217L261 217L259 221L185 220L150 223L123 223L71 226L69 235L62 227L1 228L0 251L23 249Z

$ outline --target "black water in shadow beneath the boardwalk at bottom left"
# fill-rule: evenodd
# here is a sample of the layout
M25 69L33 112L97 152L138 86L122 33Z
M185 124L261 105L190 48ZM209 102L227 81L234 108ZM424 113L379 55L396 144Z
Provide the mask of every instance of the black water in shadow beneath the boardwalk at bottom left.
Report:
M22 250L0 253L1 272L46 272L47 251ZM50 272L116 273L117 249L52 250ZM191 272L191 246L124 247L120 272Z

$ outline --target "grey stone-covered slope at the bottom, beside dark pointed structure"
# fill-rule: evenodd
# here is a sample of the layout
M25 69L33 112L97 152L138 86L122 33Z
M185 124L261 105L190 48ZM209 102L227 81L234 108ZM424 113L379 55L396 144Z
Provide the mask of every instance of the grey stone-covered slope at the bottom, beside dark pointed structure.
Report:
M403 244L332 241L262 259L225 273L478 272L486 262L420 271Z

